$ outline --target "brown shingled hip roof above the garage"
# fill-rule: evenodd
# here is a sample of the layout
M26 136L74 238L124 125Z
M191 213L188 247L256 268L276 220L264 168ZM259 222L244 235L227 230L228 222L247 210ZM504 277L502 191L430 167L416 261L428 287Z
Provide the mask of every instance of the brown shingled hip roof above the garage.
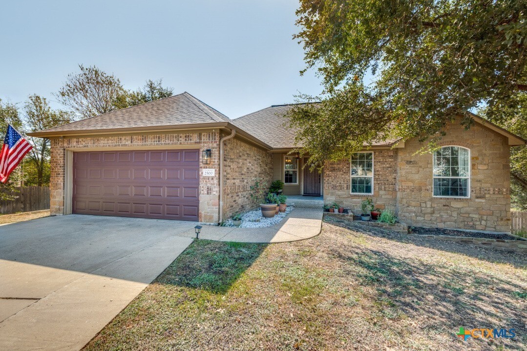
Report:
M45 132L104 130L230 122L230 119L187 92L46 129Z

